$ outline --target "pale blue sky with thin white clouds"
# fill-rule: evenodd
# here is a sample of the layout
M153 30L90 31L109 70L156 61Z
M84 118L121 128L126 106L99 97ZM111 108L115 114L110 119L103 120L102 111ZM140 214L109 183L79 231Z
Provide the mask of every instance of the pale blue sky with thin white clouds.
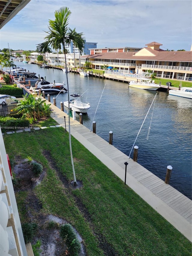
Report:
M69 28L97 48L143 48L155 41L163 50L190 51L192 45L191 0L31 0L0 30L0 49L9 44L13 50L35 51L63 6L71 11Z

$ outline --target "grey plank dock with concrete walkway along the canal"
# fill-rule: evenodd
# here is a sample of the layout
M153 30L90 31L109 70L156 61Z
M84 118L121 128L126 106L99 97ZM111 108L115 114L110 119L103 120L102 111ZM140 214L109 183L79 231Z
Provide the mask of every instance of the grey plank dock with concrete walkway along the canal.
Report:
M66 128L68 131L68 116L66 113L54 105L51 105L51 108L54 110L54 113L51 113L52 118L63 127L64 116L66 117ZM72 118L70 118L70 129L71 135L122 181L125 181L124 163L127 162L126 184L186 236L187 239L192 241L192 201L188 197L169 184L166 184L149 170L133 161L133 159L128 158L119 149Z

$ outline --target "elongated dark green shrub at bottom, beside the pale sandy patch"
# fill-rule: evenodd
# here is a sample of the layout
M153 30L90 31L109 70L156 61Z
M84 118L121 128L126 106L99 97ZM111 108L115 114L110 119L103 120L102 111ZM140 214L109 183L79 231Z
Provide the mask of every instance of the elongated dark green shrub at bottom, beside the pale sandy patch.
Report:
M60 236L64 239L70 255L78 256L81 250L81 244L76 237L73 227L70 224L64 224L60 228Z

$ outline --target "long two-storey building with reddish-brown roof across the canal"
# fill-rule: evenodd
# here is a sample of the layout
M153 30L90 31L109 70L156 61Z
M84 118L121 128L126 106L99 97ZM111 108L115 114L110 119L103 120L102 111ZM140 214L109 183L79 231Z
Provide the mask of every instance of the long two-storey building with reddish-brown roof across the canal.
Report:
M94 69L108 65L122 73L143 74L150 70L156 77L191 81L192 51L165 51L161 45L152 42L138 51L128 51L128 47L90 49L90 55L80 57L81 65L86 61Z

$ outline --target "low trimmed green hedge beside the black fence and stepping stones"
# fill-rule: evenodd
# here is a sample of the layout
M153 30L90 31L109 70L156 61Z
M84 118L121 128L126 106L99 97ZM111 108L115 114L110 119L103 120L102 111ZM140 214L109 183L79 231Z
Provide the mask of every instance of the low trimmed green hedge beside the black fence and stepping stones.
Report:
M24 118L0 117L1 131L14 131L29 127L29 120Z

